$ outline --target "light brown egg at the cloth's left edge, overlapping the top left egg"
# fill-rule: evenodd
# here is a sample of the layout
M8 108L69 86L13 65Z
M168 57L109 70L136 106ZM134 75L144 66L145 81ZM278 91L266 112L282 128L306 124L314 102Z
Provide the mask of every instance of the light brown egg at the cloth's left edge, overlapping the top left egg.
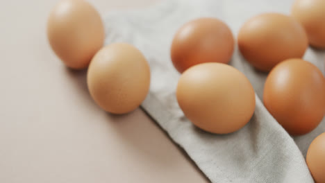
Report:
M134 46L110 44L92 58L87 83L90 95L103 110L115 114L131 112L149 92L149 64Z

